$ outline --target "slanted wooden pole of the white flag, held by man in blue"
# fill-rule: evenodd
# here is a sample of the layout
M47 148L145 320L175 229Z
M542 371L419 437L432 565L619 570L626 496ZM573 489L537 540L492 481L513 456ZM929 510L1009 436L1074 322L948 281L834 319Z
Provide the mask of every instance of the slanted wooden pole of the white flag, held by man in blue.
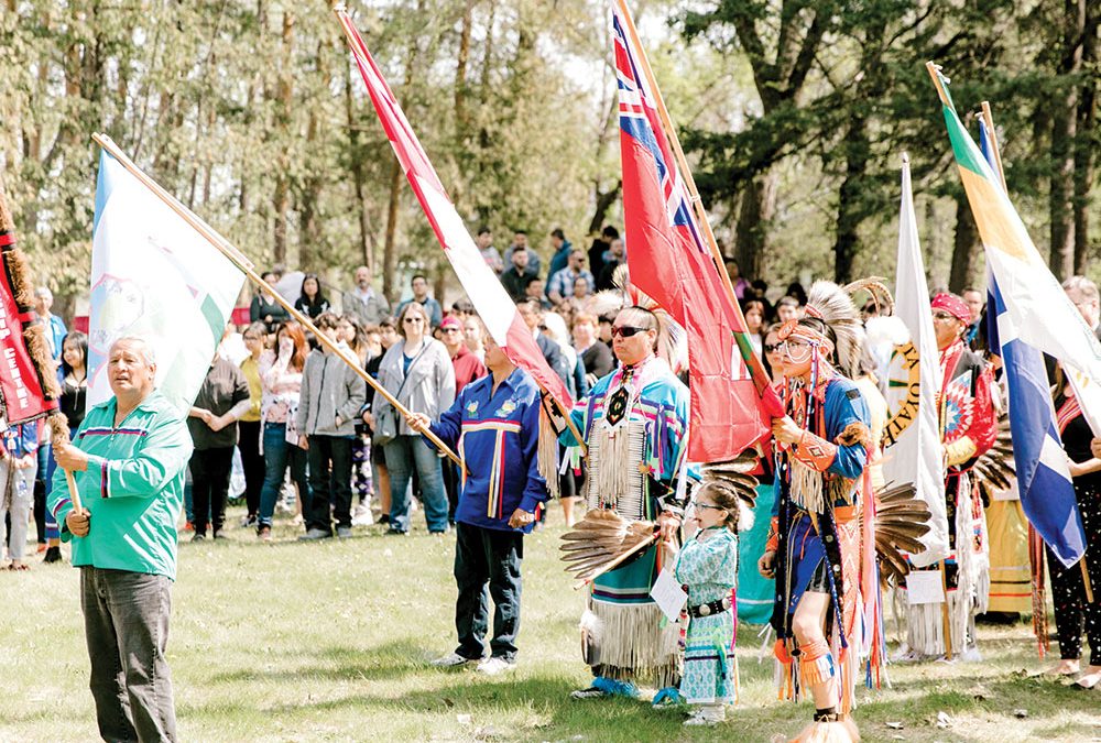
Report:
M230 244L220 234L215 232L210 227L208 227L201 219L199 219L184 205L179 204L179 201L177 201L171 194L168 194L168 192L164 190L164 188L162 188L155 181L145 175L141 171L141 168L134 165L134 163L129 157L127 157L127 155L122 152L122 150L119 149L119 146L113 142L113 140L111 140L111 138L105 134L92 134L91 139L95 140L95 142L99 146L103 147L103 150L106 150L109 155L119 161L119 163L124 168L127 168L127 171L129 171L131 175L141 181L142 185L149 188L154 196L160 198L170 209L179 215L181 219L190 225L190 227L196 232L206 238L211 245L217 248L222 255L228 258L233 263L233 265L236 265L246 276L249 277L250 281L252 281L254 284L260 286L260 288L266 291L273 297L275 297L275 301L283 306L283 308L291 315L291 317L295 319L295 321L297 321L304 328L314 334L314 337L317 338L318 343L327 348L330 352L335 353L341 361L351 367L364 382L374 387L377 394L381 395L386 402L393 405L395 411L401 413L403 416L412 415L412 411L410 411L400 402L397 402L396 397L390 394L390 392L384 386L382 386L382 384L380 384L377 380L374 380L370 374L367 373L367 370L362 369L359 365L358 359L352 359L344 351L344 349L339 348L333 340L330 340L328 336L318 330L307 316L303 315L301 312L295 309L295 307L286 299L284 299L283 296L280 295L280 293L275 291L275 288L271 284L265 282L255 271L252 270L250 262L237 248ZM459 467L465 467L462 460L459 459L459 457L454 451L451 451L450 447L444 444L444 441L442 441L438 436L433 434L427 428L423 431L423 434L429 441L436 445L436 447L440 451L450 457L456 465L458 465Z

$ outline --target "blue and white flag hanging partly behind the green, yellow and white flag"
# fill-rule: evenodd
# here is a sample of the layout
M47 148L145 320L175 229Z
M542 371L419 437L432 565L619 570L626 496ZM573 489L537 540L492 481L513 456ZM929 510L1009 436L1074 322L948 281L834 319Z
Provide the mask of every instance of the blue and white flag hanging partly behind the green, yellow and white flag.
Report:
M982 119L979 127L982 155L991 171L998 173L993 143ZM1047 369L1040 352L1021 339L990 265L986 281L986 315L988 320L993 319L988 337L991 350L1002 357L1010 391L1010 430L1021 507L1059 561L1070 567L1086 554L1086 535L1056 426ZM1066 301L1065 295L1061 298Z

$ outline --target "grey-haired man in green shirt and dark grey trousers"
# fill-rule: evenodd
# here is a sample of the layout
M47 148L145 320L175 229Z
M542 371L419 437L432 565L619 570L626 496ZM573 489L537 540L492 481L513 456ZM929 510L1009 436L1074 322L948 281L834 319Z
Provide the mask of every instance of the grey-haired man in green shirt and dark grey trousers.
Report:
M100 735L175 741L165 646L192 440L178 411L153 386L156 361L144 340L115 341L107 374L115 396L88 411L72 445L54 450L50 510L80 568ZM75 476L79 511L63 468Z

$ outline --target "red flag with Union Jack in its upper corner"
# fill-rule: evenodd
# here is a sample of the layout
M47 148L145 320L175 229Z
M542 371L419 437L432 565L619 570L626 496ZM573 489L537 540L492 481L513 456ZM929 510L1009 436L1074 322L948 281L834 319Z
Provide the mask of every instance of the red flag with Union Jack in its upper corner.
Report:
M705 242L657 112L634 25L612 9L620 96L623 221L631 283L688 332L691 419L688 457L732 459L768 433L783 406L756 359L724 271Z

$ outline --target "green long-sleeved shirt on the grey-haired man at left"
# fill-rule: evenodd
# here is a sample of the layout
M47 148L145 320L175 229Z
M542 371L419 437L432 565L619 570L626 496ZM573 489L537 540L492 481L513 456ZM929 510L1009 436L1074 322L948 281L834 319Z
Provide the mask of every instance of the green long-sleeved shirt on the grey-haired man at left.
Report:
M179 412L154 391L115 425L115 397L96 405L76 431L74 446L88 455L75 472L91 513L88 535L65 527L73 510L65 471L57 468L47 507L73 540L73 565L90 565L176 579L176 521L184 503L184 468L192 437Z

